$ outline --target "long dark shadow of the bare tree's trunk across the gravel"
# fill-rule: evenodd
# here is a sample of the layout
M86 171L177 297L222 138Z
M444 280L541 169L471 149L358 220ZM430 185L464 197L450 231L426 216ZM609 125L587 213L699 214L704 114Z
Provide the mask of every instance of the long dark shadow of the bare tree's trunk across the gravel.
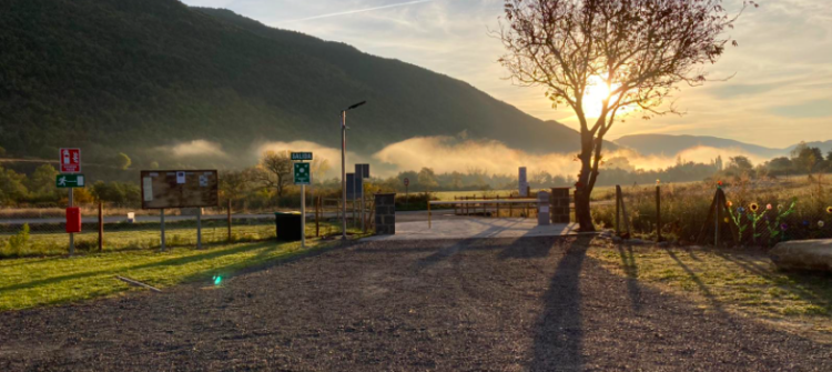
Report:
M549 289L544 310L535 324L532 371L581 370L584 329L581 321L580 272L590 237L579 237L566 245Z

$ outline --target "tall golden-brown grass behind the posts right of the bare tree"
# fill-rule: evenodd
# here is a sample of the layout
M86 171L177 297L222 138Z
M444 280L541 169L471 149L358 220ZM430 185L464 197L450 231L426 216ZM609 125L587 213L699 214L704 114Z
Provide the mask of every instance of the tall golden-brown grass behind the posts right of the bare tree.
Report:
M832 213L826 211L832 205L831 188L816 177L752 180L743 175L724 182L722 188L732 215L721 217L720 223L726 227L731 223L742 230L735 237L741 245L765 247L784 240L832 238ZM655 239L658 232L656 187L625 187L622 192L632 233ZM716 182L662 185L663 238L696 241L714 193ZM759 209L752 211L752 205ZM598 227L613 228L615 205L593 207L592 212Z

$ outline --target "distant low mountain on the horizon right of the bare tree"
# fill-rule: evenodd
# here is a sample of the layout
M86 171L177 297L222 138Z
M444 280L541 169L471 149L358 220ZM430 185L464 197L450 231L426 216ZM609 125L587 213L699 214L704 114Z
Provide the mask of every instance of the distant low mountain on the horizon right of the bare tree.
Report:
M757 144L708 135L633 134L615 141L646 155L672 157L682 150L703 145L717 149L739 149L761 158L774 158L789 153L788 149L772 149Z

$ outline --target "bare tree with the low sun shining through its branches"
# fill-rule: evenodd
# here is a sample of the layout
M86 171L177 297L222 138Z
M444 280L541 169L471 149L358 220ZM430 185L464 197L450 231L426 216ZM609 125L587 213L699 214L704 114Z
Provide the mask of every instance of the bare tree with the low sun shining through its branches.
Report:
M729 16L722 0L505 1L500 63L515 83L545 87L552 107L566 104L580 123L575 205L581 230L595 230L589 197L603 135L631 112L679 113L664 101L682 83L706 82L702 67L727 43L737 44L721 34L741 12Z

